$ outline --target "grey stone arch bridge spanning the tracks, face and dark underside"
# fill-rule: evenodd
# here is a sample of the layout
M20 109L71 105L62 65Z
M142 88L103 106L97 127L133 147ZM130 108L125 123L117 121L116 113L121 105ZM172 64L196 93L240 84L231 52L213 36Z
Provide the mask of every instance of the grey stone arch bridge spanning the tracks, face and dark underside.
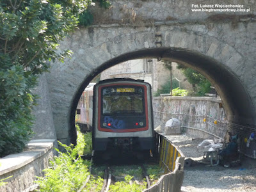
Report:
M60 46L71 49L72 58L51 63L51 73L40 80L35 138L73 142L76 105L93 77L122 61L148 57L198 70L216 87L230 122L255 126L256 25L250 17L237 18L235 27L232 21L171 20L77 29Z

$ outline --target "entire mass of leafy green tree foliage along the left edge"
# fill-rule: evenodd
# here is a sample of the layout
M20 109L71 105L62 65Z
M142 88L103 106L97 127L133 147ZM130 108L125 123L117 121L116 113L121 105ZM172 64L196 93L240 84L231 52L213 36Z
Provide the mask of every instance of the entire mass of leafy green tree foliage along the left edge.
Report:
M108 8L106 0L95 0ZM47 61L62 61L59 42L81 25L92 24L90 0L0 1L0 157L22 151L33 132L32 90ZM81 15L81 16L80 16ZM79 19L80 17L80 19Z

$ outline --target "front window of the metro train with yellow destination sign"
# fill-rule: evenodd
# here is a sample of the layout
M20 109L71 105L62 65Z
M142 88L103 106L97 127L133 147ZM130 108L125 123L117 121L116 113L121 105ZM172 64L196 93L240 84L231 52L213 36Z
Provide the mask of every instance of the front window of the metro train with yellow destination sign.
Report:
M144 88L141 86L109 86L102 88L103 115L129 115L144 112Z

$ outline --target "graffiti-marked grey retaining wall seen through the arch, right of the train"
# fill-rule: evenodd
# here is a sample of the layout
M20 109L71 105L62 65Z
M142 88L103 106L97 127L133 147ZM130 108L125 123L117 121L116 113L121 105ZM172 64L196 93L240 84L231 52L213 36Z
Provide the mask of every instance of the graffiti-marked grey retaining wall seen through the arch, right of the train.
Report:
M225 122L225 111L221 99L211 97L155 97L153 99L154 124L155 127L164 125L170 118L177 118L182 127L193 127L186 129L189 134L196 134L207 138L210 132L223 137L227 127ZM204 122L205 118L205 122ZM214 124L216 121L217 124ZM202 131L198 131L202 130ZM204 131L204 132L203 132Z

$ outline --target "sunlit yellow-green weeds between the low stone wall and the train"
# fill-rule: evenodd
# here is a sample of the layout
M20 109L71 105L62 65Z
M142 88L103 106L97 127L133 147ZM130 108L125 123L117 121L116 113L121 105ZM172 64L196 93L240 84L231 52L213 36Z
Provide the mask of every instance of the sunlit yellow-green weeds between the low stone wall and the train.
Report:
M65 148L66 152L60 152L59 156L54 157L50 162L51 168L44 170L45 177L37 177L36 183L39 184L38 191L77 191L83 186L84 180L90 174L88 166L90 163L84 161L80 156L92 154L92 132L83 134L80 128L77 129L77 145L74 147L64 145L59 142L60 146ZM102 176L104 173L102 174ZM83 191L100 191L102 188L103 179L93 177L91 175L86 188Z

